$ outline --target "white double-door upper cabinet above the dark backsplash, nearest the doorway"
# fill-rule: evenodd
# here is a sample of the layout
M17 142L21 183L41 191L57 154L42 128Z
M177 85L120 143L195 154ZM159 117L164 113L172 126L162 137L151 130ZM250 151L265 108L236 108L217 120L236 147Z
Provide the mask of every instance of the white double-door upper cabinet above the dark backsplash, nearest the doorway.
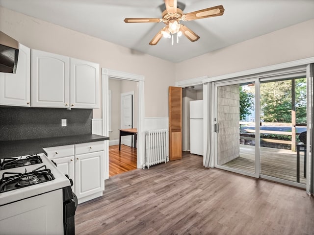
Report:
M31 88L33 107L98 109L99 64L32 49Z

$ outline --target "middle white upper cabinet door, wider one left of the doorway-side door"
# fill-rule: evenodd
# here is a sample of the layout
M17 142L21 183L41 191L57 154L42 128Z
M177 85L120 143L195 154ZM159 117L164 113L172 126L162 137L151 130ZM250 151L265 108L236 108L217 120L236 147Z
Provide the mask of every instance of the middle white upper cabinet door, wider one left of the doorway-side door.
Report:
M68 108L70 58L31 50L31 106Z

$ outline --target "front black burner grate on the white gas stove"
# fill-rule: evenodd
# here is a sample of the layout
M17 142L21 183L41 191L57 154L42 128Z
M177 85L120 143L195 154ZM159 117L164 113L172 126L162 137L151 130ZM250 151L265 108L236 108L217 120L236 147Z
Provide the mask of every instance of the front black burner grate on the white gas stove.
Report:
M44 168L44 169L41 169ZM7 192L18 188L44 183L54 180L54 176L46 165L42 165L31 172L14 173L4 172L0 180L0 193Z

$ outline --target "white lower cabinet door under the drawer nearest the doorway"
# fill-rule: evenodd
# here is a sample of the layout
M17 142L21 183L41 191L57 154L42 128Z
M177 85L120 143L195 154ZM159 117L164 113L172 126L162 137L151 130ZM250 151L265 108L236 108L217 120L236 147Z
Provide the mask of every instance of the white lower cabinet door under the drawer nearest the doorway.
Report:
M102 192L104 182L104 151L75 156L75 194L79 198Z

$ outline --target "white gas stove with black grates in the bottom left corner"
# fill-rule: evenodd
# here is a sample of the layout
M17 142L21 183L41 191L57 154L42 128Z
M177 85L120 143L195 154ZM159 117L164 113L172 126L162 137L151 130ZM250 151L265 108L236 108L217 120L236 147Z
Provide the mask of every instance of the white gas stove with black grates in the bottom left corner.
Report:
M74 234L70 180L45 154L1 159L0 177L0 234Z

